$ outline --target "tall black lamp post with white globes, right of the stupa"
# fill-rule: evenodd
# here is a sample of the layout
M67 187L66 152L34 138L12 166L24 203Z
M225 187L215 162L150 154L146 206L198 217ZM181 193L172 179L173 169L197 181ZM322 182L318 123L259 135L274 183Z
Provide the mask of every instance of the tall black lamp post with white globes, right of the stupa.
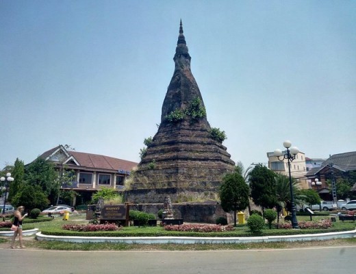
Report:
M283 162L285 159L288 160L288 171L289 171L289 179L290 179L290 203L292 206L292 227L299 228L298 221L296 220L296 206L294 205L292 176L290 175L290 162L292 162L296 158L296 154L298 154L299 149L297 147L291 147L291 146L292 143L290 141L284 141L283 147L285 147L287 151L282 152L281 149L276 149L274 154L281 162Z

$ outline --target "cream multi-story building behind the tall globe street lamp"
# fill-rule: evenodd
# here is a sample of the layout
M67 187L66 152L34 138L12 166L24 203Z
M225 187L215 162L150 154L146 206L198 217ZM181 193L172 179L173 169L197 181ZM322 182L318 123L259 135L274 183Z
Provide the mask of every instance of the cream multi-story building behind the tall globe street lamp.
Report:
M285 151L283 151L283 153L285 153ZM284 159L283 161L280 161L273 152L268 152L267 157L268 168L271 171L289 176L288 160ZM305 177L306 173L307 167L305 165L305 154L299 151L293 162L290 162L290 175L296 179L299 188L309 188Z

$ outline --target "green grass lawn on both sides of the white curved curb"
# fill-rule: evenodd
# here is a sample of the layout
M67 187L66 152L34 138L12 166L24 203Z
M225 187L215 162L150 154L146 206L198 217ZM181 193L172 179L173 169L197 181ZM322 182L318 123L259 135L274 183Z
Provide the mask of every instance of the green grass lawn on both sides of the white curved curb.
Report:
M62 225L68 223L86 224L85 214L71 215L68 221L63 221L62 217L55 216L54 219L49 219L47 216L40 216L36 223L32 223L31 219L25 219L23 223L24 229L38 228L43 234L60 235L60 236L210 236L210 237L242 237L255 236L249 232L246 225L238 225L233 232L216 232L216 233L198 233L198 232L167 232L162 227L123 227L117 232L71 232L62 229ZM313 221L325 219L325 216L314 216ZM49 221L50 220L50 221ZM298 221L309 221L309 216L298 216ZM355 229L355 223L350 221L336 221L333 227L329 229L266 229L259 236L272 235L292 235L292 234L312 234L322 232L338 232ZM313 242L266 242L266 243L249 243L249 244L228 244L228 245L129 245L129 244L114 244L114 243L69 243L56 241L41 241L33 240L34 237L27 238L26 246L29 248L40 249L60 249L60 250L216 250L216 249L276 249L288 247L308 247L315 245L356 245L356 238L313 241ZM0 243L10 242L10 239L0 239Z

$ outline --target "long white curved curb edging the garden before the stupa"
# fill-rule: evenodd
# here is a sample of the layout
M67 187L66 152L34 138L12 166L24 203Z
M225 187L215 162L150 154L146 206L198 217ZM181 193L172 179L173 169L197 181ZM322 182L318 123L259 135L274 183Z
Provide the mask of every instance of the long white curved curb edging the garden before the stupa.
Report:
M249 242L296 242L308 240L332 240L338 238L356 237L356 229L348 232L329 232L322 234L304 234L289 236L262 237L81 237L81 236L53 236L36 234L37 240L59 240L63 242L114 242L126 244L231 244Z

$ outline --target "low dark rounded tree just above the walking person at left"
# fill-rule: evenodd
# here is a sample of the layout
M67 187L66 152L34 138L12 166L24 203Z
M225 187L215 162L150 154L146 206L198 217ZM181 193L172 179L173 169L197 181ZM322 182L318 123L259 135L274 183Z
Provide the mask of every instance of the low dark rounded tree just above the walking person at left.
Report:
M43 210L47 208L48 205L49 199L47 199L47 196L42 192L40 186L25 184L12 198L12 206L25 206L27 212L34 208Z

